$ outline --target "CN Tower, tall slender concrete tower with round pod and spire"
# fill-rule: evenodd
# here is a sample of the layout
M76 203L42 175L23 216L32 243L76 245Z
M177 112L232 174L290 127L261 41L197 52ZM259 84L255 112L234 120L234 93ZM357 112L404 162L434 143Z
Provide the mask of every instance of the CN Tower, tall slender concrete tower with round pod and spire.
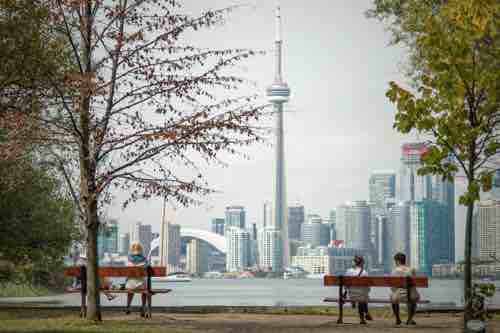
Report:
M290 89L283 81L281 73L281 15L280 7L276 8L276 39L274 42L275 75L274 83L267 88L269 102L273 104L276 115L276 170L274 179L273 224L281 232L281 267L289 266L290 244L288 241L288 205L286 202L285 152L283 142L283 104L288 102Z

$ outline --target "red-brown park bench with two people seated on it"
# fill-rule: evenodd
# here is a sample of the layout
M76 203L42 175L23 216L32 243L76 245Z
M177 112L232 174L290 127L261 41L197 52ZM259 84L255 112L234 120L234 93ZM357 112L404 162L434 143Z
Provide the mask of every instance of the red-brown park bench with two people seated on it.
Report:
M406 288L408 290L408 295L410 294L410 289L416 288L428 288L429 280L427 277L397 277L397 276L332 276L325 275L324 285L326 287L338 286L339 296L337 298L326 297L323 299L324 302L335 302L339 304L339 318L337 320L338 324L343 323L343 305L344 303L356 303L359 300L350 299L349 296L344 295L344 288L349 287L393 287L393 288ZM409 301L409 300L408 300ZM380 304L391 304L392 301L390 297L388 298L369 298L368 303L380 303ZM428 304L428 300L419 300L415 302L417 304Z

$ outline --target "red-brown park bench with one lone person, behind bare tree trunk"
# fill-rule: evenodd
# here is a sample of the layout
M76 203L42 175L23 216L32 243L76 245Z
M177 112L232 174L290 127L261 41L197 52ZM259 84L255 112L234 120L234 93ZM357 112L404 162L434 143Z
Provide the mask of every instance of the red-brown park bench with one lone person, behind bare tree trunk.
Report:
M80 307L80 317L87 316L87 268L85 266L73 266L66 267L64 269L64 275L67 277L76 277L81 281L80 287L78 288L67 288L66 292L69 293L79 293L81 294L81 307ZM98 268L99 277L126 277L126 278L146 278L146 286L144 289L103 289L100 288L101 292L106 292L109 294L146 294L146 318L151 318L151 304L152 296L155 294L167 294L172 289L153 289L151 287L151 278L156 276L165 276L165 267L99 267Z

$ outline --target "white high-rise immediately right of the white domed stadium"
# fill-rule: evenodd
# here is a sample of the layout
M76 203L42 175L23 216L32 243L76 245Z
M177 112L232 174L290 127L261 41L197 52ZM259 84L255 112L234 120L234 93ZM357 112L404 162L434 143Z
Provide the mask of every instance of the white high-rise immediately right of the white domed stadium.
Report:
M242 272L248 268L250 233L238 227L226 228L226 270Z

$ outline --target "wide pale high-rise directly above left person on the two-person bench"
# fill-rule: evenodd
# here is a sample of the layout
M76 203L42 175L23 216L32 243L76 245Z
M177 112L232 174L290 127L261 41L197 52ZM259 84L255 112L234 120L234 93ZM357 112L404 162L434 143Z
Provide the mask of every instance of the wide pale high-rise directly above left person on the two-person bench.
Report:
M370 207L366 201L354 201L337 209L338 239L348 248L370 250Z

